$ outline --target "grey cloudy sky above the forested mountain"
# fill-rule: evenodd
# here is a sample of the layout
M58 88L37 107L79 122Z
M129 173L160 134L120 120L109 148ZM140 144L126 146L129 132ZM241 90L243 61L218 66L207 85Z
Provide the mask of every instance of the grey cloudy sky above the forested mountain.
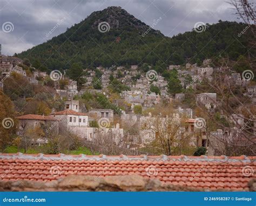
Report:
M228 1L228 0L227 0ZM0 44L2 53L13 55L46 42L64 32L93 11L121 6L165 36L191 31L197 22L237 20L224 0L0 0ZM57 26L52 34L48 32Z

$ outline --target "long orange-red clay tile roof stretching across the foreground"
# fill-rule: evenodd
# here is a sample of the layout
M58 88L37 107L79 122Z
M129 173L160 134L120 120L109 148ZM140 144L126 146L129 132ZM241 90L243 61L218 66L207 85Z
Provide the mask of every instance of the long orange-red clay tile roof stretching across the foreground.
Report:
M3 181L51 181L75 175L140 175L166 184L209 190L248 190L256 157L87 156L0 154Z

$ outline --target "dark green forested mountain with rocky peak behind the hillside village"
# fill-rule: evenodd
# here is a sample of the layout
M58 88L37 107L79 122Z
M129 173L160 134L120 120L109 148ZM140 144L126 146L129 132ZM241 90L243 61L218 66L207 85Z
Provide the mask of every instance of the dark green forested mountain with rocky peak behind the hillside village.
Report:
M107 22L110 30L100 32L98 25ZM170 25L172 27L174 25ZM237 22L206 24L205 31L165 37L160 31L147 26L124 9L111 6L96 11L79 24L73 25L46 43L18 54L30 59L42 71L66 70L72 63L82 63L84 68L143 63L184 64L200 63L212 57L236 60L240 54L248 55L249 30L238 37L247 25ZM44 63L42 65L42 63Z

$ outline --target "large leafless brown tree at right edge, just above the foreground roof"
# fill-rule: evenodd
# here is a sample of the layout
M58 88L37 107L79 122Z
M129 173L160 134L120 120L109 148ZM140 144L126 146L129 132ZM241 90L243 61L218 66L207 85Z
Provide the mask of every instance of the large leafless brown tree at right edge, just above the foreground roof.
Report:
M256 106L252 104L250 97L244 95L245 87L225 78L225 74L226 72L215 73L212 81L204 79L201 85L197 85L194 93L195 98L197 93L217 93L217 100L211 100L217 105L214 109L197 102L198 113L207 122L210 150L214 151L213 155L254 156Z

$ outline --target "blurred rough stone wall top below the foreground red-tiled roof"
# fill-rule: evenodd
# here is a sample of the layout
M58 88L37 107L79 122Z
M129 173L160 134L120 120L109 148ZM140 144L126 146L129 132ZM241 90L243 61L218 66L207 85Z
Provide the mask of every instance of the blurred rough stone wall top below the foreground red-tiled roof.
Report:
M256 191L256 179L249 183L250 191ZM51 182L0 181L1 191L208 191L162 184L159 180L142 176L81 176L70 175ZM220 191L220 190L219 190Z

